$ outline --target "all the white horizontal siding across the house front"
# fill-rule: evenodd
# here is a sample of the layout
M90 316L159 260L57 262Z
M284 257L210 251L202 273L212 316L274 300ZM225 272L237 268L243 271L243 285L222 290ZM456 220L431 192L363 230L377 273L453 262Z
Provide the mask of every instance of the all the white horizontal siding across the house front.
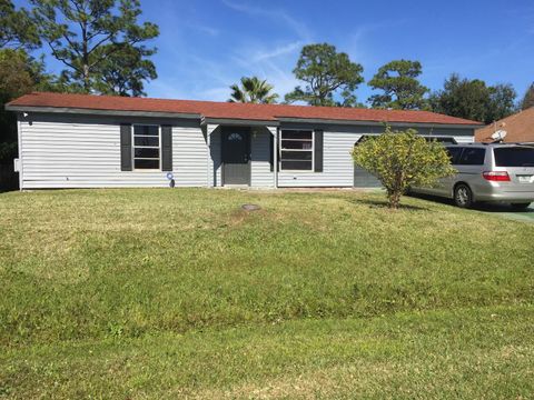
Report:
M166 172L120 170L121 122L171 124L176 186L221 186L220 128L211 133L208 151L199 121L39 113L30 113L29 118L31 120L22 118L19 122L22 189L167 187ZM279 187L352 187L354 143L362 134L377 134L383 130L370 126L320 128L324 129L323 172L280 171ZM264 128L254 131L250 184L273 187L270 132ZM431 132L452 136L458 143L473 141L471 129L419 130L422 134Z

